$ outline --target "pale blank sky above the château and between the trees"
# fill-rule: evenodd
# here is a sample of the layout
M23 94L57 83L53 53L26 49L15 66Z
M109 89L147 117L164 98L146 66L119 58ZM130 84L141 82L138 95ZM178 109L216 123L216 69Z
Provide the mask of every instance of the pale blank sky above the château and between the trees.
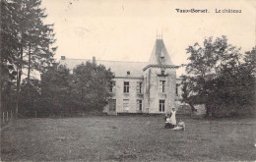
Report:
M54 24L55 58L148 62L162 34L174 65L186 64L186 48L210 36L251 50L256 44L256 2L253 0L42 0ZM208 13L177 13L208 10ZM224 9L241 13L216 13ZM177 70L177 76L184 74Z

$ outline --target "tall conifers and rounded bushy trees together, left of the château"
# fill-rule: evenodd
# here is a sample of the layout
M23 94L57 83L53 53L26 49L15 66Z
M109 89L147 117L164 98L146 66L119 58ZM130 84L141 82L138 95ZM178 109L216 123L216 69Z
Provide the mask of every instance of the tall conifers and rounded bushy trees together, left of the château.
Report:
M46 17L41 0L1 1L1 110L48 116L105 104L110 70L88 62L71 74L58 65L54 26L44 24Z

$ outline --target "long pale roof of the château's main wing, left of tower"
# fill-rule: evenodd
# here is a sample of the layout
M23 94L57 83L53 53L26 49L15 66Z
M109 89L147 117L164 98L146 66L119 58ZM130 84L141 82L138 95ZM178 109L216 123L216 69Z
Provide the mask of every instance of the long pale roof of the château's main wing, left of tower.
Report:
M87 59L71 59L65 58L60 60L60 64L66 65L69 69L74 69L76 66L87 61ZM143 76L143 68L147 66L147 62L122 62L122 61L106 61L96 60L97 65L103 65L106 69L110 68L111 72L114 73L115 77L127 77L127 72L130 72L129 77L141 78Z

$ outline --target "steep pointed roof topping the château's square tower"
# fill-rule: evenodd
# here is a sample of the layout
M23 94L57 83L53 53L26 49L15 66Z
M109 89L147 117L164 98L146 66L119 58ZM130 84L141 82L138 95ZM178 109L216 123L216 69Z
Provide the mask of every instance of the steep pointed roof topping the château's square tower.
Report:
M156 40L149 65L173 65L162 39Z

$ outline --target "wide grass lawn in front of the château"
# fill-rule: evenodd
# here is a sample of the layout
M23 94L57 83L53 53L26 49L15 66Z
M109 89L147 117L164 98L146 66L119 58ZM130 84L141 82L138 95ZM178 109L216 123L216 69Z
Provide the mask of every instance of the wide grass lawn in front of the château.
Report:
M2 131L2 161L252 161L253 119L184 118L186 131L163 129L163 117L20 119Z

